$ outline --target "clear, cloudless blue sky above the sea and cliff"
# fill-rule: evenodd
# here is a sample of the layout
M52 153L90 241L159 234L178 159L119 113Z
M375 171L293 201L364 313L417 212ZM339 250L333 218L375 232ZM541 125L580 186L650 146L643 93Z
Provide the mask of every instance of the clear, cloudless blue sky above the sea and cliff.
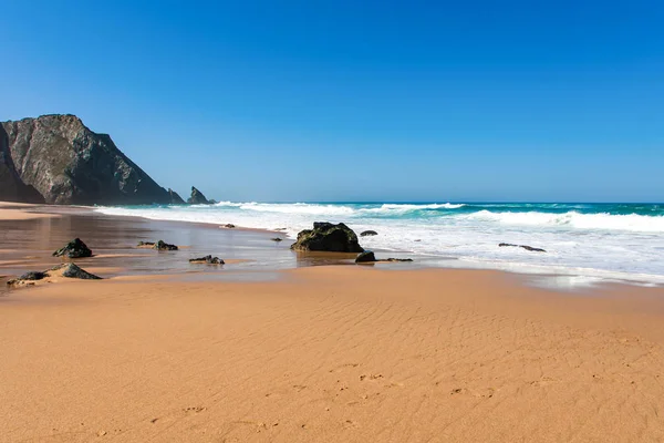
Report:
M76 114L184 195L664 200L662 1L1 11L0 120Z

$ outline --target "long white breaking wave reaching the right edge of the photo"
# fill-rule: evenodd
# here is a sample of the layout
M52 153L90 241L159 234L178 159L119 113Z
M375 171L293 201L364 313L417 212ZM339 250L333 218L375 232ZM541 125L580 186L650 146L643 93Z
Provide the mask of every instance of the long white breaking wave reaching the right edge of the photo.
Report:
M485 209L459 217L469 220L496 222L506 225L559 226L577 229L664 233L664 216L645 216L637 214L581 214L575 210L563 214L537 212L492 213Z

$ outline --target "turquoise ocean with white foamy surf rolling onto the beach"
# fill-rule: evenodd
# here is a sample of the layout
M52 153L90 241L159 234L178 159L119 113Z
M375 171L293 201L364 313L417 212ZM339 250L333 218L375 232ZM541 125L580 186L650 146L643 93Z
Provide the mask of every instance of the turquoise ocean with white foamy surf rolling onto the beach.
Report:
M234 203L97 207L117 216L235 224L294 238L313 222L343 222L366 249L427 264L573 276L588 281L664 284L664 204L587 203ZM546 253L499 247L529 245Z

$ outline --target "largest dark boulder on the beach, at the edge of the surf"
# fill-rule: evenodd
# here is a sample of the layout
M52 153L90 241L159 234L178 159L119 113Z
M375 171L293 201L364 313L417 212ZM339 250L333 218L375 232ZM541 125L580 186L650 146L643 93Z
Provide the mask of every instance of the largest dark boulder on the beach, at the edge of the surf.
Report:
M364 253L357 243L353 229L343 223L317 222L313 229L305 229L298 234L298 240L291 245L293 250L321 250L329 253Z

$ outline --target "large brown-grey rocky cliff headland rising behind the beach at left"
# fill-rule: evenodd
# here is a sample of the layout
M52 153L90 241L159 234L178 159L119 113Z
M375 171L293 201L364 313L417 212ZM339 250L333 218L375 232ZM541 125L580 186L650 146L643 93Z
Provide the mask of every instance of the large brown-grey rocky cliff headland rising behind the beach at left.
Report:
M75 115L42 115L1 126L0 198L13 186L22 193L32 188L49 204L183 203L174 202L175 193L157 185L108 135L90 131Z

